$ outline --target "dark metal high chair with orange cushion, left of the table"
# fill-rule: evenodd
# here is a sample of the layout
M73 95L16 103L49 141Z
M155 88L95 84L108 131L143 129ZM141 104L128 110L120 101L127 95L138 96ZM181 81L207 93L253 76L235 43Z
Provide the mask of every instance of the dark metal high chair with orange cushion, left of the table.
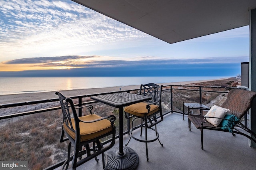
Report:
M76 109L81 107L75 108L72 99L65 97L60 92L56 92L55 94L58 95L60 99L63 114L60 142L66 140L70 141L68 144L68 158L66 162L64 162L62 169L64 169L65 166L66 169L68 169L70 160L72 160L73 169L76 169L76 167L92 158L95 158L98 162L96 156L100 154L102 154L102 164L104 168L104 152L115 144L116 127L114 126L114 121L116 117L113 115L107 117L95 115L92 113L92 105L83 106L88 108L90 114L78 117ZM64 134L67 136L66 138L64 138ZM103 147L100 139L108 135L112 135L111 143ZM71 144L74 146L74 154L72 156L70 156ZM85 149L82 149L82 146L84 146Z

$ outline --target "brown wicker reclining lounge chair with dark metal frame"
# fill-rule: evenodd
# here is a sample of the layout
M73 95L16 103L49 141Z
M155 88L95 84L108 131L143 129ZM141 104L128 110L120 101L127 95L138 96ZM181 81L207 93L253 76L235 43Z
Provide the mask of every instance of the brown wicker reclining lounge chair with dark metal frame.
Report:
M189 130L191 130L191 122L195 125L197 129L201 130L201 144L202 149L203 147L203 130L209 129L209 130L218 130L223 132L231 132L233 136L236 134L241 134L243 136L246 136L250 140L254 141L256 143L256 134L252 132L249 128L244 126L242 123L240 123L240 119L247 113L247 111L252 107L252 100L256 98L256 92L254 91L246 91L243 89L232 89L228 93L228 97L226 101L222 104L222 108L229 109L229 115L234 115L235 119L228 120L226 117L222 118L222 122L226 121L231 126L226 128L223 127L223 123L221 122L220 125L217 127L206 121L207 118L211 117L205 117L203 115L188 115L188 127ZM233 116L233 117L234 117ZM214 118L214 119L221 119L221 118ZM250 135L245 134L244 132L239 131L236 127L242 128L246 132L250 133Z

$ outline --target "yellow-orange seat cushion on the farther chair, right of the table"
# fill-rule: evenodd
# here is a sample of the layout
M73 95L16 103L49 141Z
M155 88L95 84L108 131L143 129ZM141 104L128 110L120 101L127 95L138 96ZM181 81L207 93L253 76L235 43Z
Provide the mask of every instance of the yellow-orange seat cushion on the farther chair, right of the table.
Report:
M146 105L148 105L148 103L144 103L144 102L136 103L136 104L125 107L124 111L126 113L130 113L131 115L144 117L144 115L148 113L148 109L146 109ZM157 111L159 111L158 105L150 105L150 112L148 113L148 116L152 115L153 113L156 113Z

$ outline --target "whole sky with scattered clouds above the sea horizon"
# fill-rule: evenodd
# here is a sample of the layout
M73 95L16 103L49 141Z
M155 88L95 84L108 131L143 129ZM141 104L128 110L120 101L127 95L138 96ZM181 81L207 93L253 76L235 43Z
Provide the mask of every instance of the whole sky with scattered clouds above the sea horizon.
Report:
M249 26L169 44L71 0L0 0L0 77L235 76L247 61Z

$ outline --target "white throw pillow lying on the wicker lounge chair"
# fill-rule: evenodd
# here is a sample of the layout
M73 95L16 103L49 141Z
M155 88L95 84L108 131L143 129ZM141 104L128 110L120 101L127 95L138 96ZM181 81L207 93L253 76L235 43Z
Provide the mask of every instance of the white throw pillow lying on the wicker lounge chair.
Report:
M213 105L212 108L206 113L206 121L211 123L214 126L218 126L222 119L216 119L216 118L207 118L207 117L218 117L218 118L224 118L225 115L229 112L229 109L225 109L222 107L218 107L216 105Z

